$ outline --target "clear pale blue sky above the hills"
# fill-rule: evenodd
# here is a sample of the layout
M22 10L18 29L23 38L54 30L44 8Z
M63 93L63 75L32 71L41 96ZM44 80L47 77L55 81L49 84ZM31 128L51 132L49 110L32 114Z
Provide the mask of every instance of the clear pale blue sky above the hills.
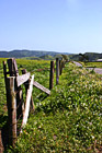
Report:
M102 52L102 0L0 0L0 50Z

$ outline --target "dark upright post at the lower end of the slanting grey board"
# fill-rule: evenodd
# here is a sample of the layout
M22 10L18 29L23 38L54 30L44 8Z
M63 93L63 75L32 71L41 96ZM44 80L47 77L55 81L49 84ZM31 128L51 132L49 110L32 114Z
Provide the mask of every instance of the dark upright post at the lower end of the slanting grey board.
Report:
M49 90L54 86L54 61L50 61Z

